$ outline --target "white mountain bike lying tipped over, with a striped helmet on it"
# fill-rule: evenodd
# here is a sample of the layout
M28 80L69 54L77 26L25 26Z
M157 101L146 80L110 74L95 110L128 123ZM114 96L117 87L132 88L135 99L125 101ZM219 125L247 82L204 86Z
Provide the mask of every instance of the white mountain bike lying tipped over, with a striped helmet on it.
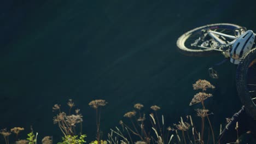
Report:
M245 27L231 23L216 23L197 27L177 40L179 52L187 56L211 56L222 53L231 63L237 64L237 92L249 115L256 119L256 48L255 34ZM212 78L218 79L213 68Z

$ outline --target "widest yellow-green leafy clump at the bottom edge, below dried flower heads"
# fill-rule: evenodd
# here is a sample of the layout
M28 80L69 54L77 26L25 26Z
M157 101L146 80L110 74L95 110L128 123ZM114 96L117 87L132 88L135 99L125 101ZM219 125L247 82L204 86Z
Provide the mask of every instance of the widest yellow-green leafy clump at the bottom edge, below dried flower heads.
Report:
M57 144L83 144L86 141L84 140L86 135L66 135L62 137L62 142L58 142Z

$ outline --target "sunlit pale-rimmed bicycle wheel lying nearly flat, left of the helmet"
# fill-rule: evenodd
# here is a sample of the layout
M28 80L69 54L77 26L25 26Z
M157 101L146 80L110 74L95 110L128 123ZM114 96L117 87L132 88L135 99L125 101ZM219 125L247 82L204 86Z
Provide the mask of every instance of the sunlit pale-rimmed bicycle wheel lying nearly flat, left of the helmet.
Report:
M234 35L235 29L241 28L241 26L234 25L231 23L216 23L211 25L206 25L202 27L197 27L191 31L184 33L177 40L178 50L187 56L209 56L216 53L218 48L218 42L212 39L210 36L206 37L206 32L208 29L211 31L221 32L228 35ZM223 41L228 43L231 39L222 38ZM211 49L203 49L198 46L207 46Z

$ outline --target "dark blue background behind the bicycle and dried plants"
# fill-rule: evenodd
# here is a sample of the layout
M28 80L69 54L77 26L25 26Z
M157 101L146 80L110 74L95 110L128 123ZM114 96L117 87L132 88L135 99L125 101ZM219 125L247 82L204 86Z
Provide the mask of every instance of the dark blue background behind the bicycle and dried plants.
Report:
M255 5L247 1L1 1L0 129L33 125L39 139L61 131L52 107L73 99L84 116L86 140L95 139L95 111L88 103L105 99L101 127L106 135L133 104L146 112L159 105L167 125L193 115L192 84L210 81L206 101L216 130L241 107L235 65L208 68L223 56L187 57L176 40L192 28L235 23L256 31ZM24 132L22 132L24 133ZM25 136L25 133L23 134ZM1 143L3 137L0 138ZM56 141L55 141L56 142Z

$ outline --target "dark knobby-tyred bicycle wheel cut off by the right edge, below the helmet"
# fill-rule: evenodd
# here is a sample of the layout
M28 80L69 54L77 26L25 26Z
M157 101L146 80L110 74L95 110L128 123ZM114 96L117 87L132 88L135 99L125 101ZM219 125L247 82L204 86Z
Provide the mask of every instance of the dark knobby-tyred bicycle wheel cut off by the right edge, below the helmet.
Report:
M247 113L256 120L256 48L246 53L238 64L236 87Z

